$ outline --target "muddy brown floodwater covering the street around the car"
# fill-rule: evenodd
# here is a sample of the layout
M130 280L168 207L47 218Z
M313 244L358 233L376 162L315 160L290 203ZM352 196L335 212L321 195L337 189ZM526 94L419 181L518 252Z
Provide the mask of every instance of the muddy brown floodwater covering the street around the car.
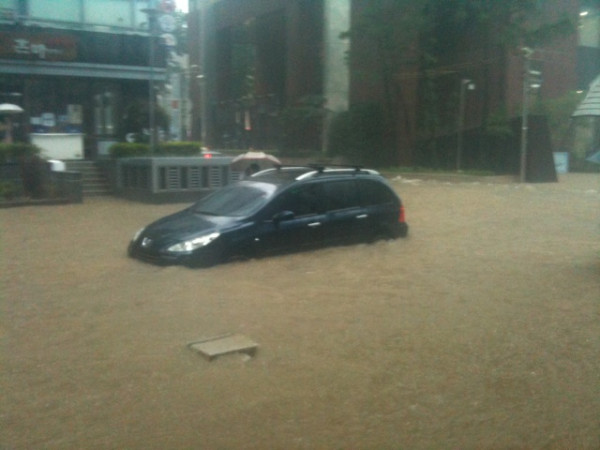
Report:
M130 260L184 205L0 210L3 449L598 449L600 177L395 179L406 239ZM209 362L186 344L260 347Z

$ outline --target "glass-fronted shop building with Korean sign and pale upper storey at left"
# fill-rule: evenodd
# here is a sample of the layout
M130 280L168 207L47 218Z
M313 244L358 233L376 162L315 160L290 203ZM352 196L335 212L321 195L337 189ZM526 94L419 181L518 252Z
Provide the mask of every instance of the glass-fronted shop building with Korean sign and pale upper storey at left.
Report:
M149 23L168 26L170 3L0 0L0 95L25 110L17 138L44 147L66 136L64 159L107 155L133 131L123 128L132 105L147 110L165 81L166 49Z

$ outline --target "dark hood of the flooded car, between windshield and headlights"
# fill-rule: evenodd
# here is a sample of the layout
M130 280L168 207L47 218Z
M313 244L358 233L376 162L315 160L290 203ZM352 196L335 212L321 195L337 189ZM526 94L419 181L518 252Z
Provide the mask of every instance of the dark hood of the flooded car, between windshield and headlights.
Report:
M197 214L186 209L151 223L142 236L155 242L179 242L202 234L221 232L235 223L237 218L234 217Z

